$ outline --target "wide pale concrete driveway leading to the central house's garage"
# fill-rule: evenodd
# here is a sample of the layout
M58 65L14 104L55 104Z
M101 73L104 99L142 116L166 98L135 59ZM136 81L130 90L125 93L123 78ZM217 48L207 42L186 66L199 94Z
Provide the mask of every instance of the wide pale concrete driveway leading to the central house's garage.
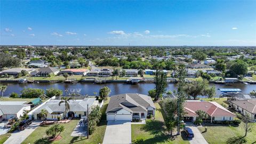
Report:
M132 143L131 122L108 121L103 144L109 143Z

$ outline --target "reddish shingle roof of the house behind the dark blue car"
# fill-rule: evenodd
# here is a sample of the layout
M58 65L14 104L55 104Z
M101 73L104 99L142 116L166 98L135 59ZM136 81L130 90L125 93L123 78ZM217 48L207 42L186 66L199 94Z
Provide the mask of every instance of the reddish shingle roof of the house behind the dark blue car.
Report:
M186 110L190 113L187 116L194 116L197 110L203 110L210 116L236 116L235 114L231 113L231 111L227 110L226 108L219 105L217 102L212 101L186 101L184 104Z

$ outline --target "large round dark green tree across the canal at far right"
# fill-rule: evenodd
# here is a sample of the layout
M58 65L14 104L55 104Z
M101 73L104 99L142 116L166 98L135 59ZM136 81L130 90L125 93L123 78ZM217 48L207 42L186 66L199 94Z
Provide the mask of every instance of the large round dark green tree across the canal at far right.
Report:
M236 76L238 76L246 74L247 67L248 65L246 62L234 62L229 69L233 71L236 74Z

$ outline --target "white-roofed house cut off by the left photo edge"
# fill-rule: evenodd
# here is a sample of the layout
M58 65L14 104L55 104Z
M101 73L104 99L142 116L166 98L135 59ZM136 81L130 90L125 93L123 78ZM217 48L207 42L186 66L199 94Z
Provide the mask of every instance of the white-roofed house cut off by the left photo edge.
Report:
M20 118L24 110L30 110L26 101L0 101L0 122L4 119Z

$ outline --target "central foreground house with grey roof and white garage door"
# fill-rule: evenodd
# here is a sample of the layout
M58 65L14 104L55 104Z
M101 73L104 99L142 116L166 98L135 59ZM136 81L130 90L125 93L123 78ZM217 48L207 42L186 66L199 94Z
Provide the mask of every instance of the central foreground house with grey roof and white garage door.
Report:
M106 110L107 121L132 121L155 115L156 107L148 95L125 93L113 95Z

